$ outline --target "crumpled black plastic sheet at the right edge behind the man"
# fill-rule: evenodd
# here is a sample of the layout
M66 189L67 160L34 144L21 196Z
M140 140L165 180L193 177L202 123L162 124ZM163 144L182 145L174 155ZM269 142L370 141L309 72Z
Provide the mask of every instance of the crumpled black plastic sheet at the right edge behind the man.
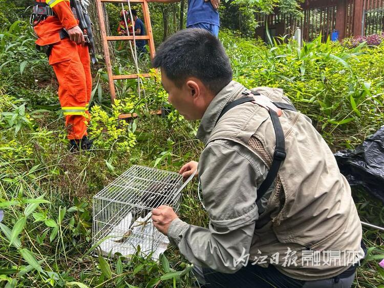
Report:
M351 186L364 187L384 203L384 126L356 149L334 155Z

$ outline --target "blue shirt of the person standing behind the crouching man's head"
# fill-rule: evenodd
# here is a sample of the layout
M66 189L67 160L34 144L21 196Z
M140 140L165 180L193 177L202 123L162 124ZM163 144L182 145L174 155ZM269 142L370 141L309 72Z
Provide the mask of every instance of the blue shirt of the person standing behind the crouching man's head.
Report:
M220 26L219 12L204 0L188 0L187 27L198 23Z

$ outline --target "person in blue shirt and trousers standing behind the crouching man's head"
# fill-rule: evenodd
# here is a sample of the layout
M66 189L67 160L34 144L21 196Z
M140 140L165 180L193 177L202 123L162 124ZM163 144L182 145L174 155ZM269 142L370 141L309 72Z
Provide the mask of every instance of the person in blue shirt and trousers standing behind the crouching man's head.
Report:
M157 3L176 3L180 0L147 0ZM220 0L188 0L187 28L202 28L218 37Z

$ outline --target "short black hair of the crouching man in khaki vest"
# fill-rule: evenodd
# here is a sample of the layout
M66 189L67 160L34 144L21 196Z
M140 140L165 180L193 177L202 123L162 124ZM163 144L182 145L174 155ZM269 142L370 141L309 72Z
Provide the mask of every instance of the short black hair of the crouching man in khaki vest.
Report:
M179 88L188 77L196 77L215 95L232 80L222 43L200 28L188 28L170 36L157 49L152 65L162 68Z

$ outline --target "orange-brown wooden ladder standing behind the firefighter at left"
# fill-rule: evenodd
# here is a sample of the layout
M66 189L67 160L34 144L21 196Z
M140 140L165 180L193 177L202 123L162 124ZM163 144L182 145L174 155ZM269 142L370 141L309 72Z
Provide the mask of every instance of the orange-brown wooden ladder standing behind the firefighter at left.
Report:
M123 80L123 79L135 79L139 76L142 77L150 77L150 74L126 74L126 75L113 75L112 73L112 65L111 65L111 57L108 47L108 41L116 41L116 40L126 40L130 41L133 40L132 36L108 36L106 35L106 29L105 29L105 21L104 21L104 11L103 11L103 3L128 3L127 0L96 0L96 6L97 6L97 14L99 16L99 23L100 23L100 32L101 32L101 38L103 41L103 48L104 48L104 57L105 57L105 64L106 64L106 71L108 72L108 80L110 85L110 91L111 91L111 100L112 102L116 99L116 90L115 90L115 80ZM148 9L148 3L146 0L130 0L130 3L141 3L141 8L143 9L143 16L144 16L144 25L146 30L146 35L144 36L136 36L136 40L147 40L148 46L150 47L150 56L151 59L155 56L155 43L153 40L152 35L152 26L151 26L151 18L150 18L150 10ZM133 23L133 19L132 19ZM133 115L134 117L134 115Z

